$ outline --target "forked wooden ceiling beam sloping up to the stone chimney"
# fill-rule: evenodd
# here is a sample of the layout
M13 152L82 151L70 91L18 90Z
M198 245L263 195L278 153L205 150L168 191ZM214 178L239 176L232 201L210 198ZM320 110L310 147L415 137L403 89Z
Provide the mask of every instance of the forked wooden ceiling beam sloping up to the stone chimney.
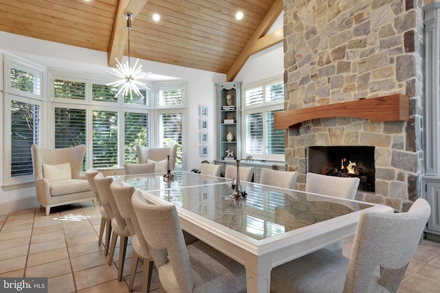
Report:
M275 45L283 40L283 30L281 30L281 40L279 30L276 30L272 34L268 34L267 38L264 38L267 31L270 29L270 26L274 23L282 11L283 0L276 0L274 5L272 5L270 10L265 15L263 21L261 21L259 27L256 28L249 42L245 45L243 51L241 51L239 57L236 58L234 64L229 69L228 73L226 73L226 80L228 82L232 82L232 80L234 80L241 67L245 65L245 62L249 59L249 57L257 52L255 51L256 49L260 48L259 51L261 51L262 49Z

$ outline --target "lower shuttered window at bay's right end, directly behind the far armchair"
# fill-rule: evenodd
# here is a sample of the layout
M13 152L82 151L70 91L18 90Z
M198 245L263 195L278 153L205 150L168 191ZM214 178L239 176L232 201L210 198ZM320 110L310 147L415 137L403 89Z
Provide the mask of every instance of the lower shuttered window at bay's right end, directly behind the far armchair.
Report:
M159 114L159 147L177 144L176 166L181 166L182 113Z

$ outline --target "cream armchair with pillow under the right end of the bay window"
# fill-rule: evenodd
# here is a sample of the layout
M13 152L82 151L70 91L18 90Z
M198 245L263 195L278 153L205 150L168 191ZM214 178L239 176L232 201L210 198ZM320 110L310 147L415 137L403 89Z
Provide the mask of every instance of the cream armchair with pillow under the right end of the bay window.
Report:
M170 170L174 171L177 156L177 144L168 148L148 148L136 145L137 160L140 164L155 163L155 172L165 172L170 156Z

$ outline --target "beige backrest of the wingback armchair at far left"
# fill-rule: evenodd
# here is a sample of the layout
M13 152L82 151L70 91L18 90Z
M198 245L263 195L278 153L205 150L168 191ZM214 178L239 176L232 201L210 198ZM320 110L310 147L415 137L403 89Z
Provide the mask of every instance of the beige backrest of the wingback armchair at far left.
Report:
M76 145L72 148L39 148L38 145L33 144L30 152L35 180L44 178L43 164L59 165L63 163L70 163L72 179L84 178L80 172L83 167L85 145Z

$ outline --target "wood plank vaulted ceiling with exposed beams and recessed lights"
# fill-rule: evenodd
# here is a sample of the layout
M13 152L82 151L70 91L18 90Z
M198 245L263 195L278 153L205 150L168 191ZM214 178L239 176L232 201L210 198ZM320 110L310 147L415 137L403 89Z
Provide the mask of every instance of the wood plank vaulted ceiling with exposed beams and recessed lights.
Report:
M115 66L115 57L129 54L125 13L131 12L131 58L233 80L250 55L283 40L283 30L265 36L282 10L283 0L0 0L0 30L107 51Z

